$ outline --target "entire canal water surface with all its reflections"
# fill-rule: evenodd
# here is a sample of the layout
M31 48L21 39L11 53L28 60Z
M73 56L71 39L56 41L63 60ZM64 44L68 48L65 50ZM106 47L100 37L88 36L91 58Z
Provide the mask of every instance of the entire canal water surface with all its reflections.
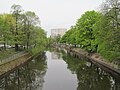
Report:
M120 90L120 81L86 58L54 50L1 77L0 90Z

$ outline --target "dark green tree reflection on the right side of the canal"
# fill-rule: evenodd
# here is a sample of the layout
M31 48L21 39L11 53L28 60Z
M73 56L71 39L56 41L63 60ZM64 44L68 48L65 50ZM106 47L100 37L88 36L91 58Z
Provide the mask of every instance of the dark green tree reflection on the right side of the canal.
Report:
M120 90L120 83L109 73L87 62L85 58L75 58L63 51L63 60L68 69L77 75L77 90Z

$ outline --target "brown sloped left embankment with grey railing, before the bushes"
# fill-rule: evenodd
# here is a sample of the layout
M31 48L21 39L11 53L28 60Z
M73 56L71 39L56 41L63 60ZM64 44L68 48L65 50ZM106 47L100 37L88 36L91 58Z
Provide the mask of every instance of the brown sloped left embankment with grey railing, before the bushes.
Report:
M28 62L32 58L33 56L27 52L20 52L6 58L0 63L0 76L4 76L5 74Z

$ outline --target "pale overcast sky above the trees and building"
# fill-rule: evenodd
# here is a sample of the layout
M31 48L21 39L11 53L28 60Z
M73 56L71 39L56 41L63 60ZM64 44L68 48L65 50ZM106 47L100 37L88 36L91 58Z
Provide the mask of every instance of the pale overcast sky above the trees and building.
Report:
M34 11L41 27L50 35L53 28L70 28L88 10L98 10L103 0L1 0L0 13L9 13L13 4Z

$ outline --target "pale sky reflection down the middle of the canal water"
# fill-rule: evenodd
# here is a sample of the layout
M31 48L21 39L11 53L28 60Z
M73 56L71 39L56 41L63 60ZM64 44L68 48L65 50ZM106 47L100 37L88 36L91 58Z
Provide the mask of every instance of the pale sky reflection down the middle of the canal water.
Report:
M61 53L46 52L46 56L48 69L43 90L75 90L77 87L76 75L71 74L67 69ZM56 58L52 58L53 56Z

